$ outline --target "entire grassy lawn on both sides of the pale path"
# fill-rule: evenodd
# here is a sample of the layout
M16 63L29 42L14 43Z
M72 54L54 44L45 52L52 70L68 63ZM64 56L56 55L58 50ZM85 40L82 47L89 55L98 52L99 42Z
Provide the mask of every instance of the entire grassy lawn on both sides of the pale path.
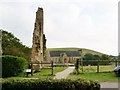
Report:
M40 72L33 73L33 76L29 75L26 77L26 74L22 74L17 77L11 77L13 79L24 79L24 78L40 78L40 79L46 79L46 78L53 78L57 72L61 72L65 70L68 67L54 67L54 75L51 75L51 69L42 69ZM98 82L118 82L118 79L120 77L116 77L114 72L107 72L104 71L112 71L114 66L100 66L100 73L96 73L96 66L84 66L83 70L84 73L80 73L79 75L73 73L69 75L69 79L78 79L78 78L84 78L86 80L94 80ZM104 73L103 73L104 72ZM6 78L8 79L8 78Z

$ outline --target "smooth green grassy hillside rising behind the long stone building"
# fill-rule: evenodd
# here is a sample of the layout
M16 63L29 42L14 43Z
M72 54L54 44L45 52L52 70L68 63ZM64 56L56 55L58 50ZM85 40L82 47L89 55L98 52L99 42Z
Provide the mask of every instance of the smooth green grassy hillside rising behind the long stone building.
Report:
M47 48L47 50L50 50L50 51L62 51L62 50L65 50L65 51L78 51L82 49L83 51L83 54L87 54L87 53L91 53L93 55L99 55L101 56L103 53L100 53L100 52L97 52L97 51L94 51L94 50L90 50L90 49L85 49L85 48Z

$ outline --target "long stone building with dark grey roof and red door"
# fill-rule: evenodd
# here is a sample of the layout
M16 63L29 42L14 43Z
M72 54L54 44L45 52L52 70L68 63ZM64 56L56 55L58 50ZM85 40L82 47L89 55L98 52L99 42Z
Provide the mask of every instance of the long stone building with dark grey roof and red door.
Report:
M80 59L81 55L79 51L48 51L47 59L54 63L75 63L77 59Z

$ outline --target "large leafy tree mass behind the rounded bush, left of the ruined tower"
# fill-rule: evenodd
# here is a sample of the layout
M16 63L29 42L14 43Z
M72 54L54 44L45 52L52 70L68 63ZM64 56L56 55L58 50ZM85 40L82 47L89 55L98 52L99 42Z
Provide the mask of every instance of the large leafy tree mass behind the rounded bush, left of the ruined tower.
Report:
M23 45L20 40L12 33L0 30L2 32L2 55L21 56L30 60L31 49Z

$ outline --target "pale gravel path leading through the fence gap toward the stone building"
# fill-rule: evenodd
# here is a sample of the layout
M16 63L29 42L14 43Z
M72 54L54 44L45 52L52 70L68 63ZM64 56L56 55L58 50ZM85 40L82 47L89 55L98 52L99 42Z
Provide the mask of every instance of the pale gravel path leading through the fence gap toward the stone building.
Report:
M75 67L70 66L70 67L68 67L67 69L65 69L64 71L55 74L54 79L67 78L68 75L69 75L71 72L73 72L74 68L75 68Z

